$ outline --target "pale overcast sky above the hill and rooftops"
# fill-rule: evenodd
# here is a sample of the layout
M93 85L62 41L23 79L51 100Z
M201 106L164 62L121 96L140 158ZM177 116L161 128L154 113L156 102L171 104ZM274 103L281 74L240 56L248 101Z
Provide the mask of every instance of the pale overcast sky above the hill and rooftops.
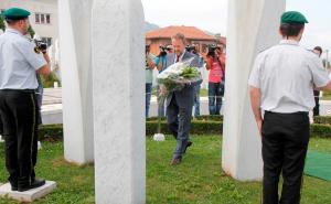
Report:
M226 35L227 0L142 0L142 6L146 20L160 26L193 25ZM287 0L287 10L298 10L309 21L303 46L331 51L330 0Z

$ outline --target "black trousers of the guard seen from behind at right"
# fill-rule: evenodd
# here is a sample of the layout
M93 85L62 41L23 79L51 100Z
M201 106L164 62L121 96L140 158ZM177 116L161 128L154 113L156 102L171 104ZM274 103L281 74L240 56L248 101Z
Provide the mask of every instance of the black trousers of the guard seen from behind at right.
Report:
M299 204L305 159L309 142L308 112L266 112L263 130L263 203ZM278 182L282 173L279 200Z

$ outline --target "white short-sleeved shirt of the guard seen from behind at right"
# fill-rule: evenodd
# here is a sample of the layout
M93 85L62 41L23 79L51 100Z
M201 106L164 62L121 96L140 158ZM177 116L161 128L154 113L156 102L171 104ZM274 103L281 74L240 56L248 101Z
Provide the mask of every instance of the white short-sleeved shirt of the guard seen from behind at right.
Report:
M314 53L296 41L282 40L258 54L248 84L260 89L263 110L296 112L311 110L313 87L323 87L329 80Z

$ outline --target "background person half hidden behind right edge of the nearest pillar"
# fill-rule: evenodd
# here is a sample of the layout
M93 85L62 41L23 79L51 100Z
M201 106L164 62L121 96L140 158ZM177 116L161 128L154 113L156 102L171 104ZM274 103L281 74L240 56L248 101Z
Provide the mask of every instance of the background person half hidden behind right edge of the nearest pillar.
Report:
M146 45L146 118L149 117L150 99L152 94L153 69L156 56L150 53L150 45Z

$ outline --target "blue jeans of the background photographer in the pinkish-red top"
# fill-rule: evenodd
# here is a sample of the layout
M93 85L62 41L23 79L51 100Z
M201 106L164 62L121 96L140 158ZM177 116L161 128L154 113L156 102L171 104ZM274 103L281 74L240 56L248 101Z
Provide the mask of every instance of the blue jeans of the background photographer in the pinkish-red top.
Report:
M210 115L220 115L222 107L221 83L209 83L209 107Z

